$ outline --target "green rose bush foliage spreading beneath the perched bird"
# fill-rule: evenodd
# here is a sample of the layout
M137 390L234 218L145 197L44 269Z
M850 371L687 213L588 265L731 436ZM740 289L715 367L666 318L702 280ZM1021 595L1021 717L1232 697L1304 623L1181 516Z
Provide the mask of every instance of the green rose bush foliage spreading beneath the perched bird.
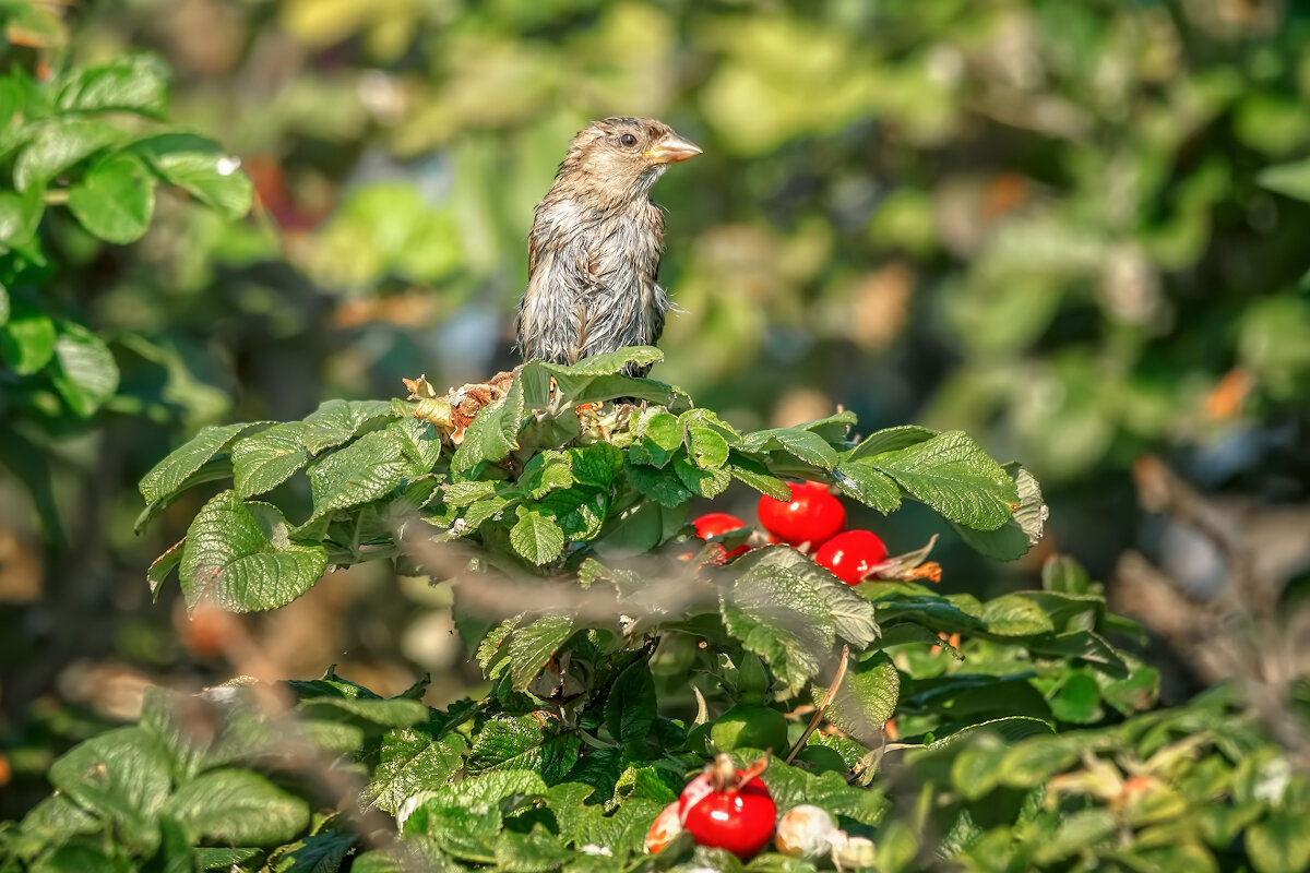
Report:
M975 537L1034 510L1020 471L963 435L854 441L850 414L739 433L677 389L620 374L655 359L529 363L462 432L444 398L333 402L300 423L202 431L161 461L141 482L143 522L198 483L236 487L156 563L156 589L177 567L193 609L265 610L329 563L434 572L444 558L489 692L435 709L426 682L381 698L333 671L275 703L249 686L153 692L139 725L55 763L58 793L3 835L13 869L739 869L689 842L642 852L709 753L744 764L765 751L714 747L738 734L713 730L711 712L740 717L739 704L795 713L795 763L765 774L779 809L824 806L874 838L878 869L1218 869L1243 857L1241 835L1256 869L1298 869L1310 783L1226 695L1151 711L1158 673L1111 643L1136 626L1072 561L1049 563L1040 590L984 602L895 571L850 588L789 546L723 563L711 539L658 560L686 551L693 497L732 478L765 493L786 493L781 476L832 480L887 509L912 497ZM295 525L255 500L293 475L313 493ZM1034 517L1019 552L1040 535ZM489 589L493 609L521 611L489 620ZM825 696L832 729L811 733L803 704ZM887 741L891 719L901 742ZM320 770L335 796L316 788ZM918 797L908 814L903 794ZM379 814L397 842L360 818ZM765 853L748 869L816 868Z

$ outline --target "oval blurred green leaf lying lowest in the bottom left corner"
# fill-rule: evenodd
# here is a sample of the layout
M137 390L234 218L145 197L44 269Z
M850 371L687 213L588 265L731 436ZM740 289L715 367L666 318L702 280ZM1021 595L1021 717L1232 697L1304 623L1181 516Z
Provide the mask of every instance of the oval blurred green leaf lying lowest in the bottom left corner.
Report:
M166 810L193 839L290 843L309 827L309 805L249 770L212 770L181 785Z

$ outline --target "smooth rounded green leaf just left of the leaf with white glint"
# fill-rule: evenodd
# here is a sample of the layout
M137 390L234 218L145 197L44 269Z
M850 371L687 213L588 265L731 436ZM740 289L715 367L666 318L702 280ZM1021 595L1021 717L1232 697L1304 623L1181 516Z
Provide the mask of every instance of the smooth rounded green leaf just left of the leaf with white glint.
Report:
M101 240L135 242L155 213L155 179L131 154L111 154L68 190L68 209Z

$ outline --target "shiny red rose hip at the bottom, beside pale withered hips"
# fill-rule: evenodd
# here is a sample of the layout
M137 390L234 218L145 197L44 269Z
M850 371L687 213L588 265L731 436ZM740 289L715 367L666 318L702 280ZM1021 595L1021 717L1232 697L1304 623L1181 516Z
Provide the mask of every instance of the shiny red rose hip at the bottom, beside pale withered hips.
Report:
M769 843L778 808L752 771L734 770L728 759L726 772L717 766L715 772L697 776L683 789L679 814L697 844L748 859Z

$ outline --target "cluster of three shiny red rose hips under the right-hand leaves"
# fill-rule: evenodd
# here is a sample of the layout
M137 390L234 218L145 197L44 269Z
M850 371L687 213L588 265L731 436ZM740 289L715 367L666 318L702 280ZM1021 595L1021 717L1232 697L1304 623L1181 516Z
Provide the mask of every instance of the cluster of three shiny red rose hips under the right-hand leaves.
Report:
M846 509L817 482L791 484L791 500L760 497L760 526L769 542L808 548L817 564L827 567L848 585L858 585L878 564L887 560L887 546L870 530L845 530ZM701 539L728 534L747 526L726 512L711 512L692 522ZM749 551L738 546L724 560Z

